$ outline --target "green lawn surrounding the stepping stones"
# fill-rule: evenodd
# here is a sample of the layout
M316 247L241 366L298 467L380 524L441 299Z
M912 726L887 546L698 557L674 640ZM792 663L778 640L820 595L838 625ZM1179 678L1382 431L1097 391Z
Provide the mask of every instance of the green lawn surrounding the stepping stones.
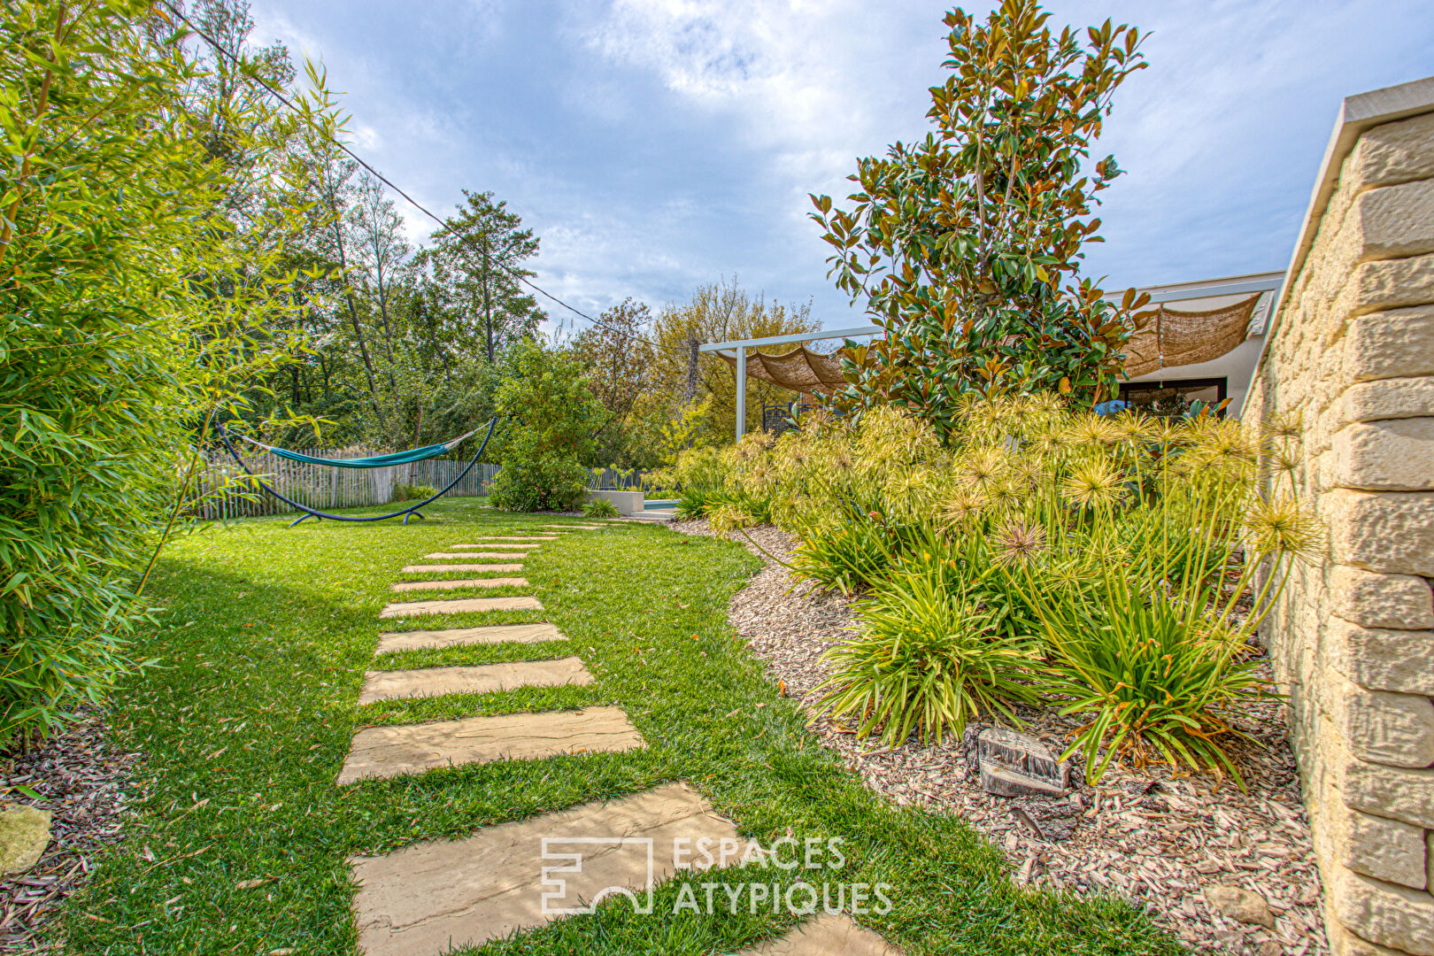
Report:
M799 838L843 837L849 861L836 879L892 884L895 909L862 922L913 956L1182 952L1124 903L1015 887L1001 854L959 820L888 806L816 747L727 625L728 599L757 568L737 545L635 523L576 532L523 559L522 576L545 612L443 621L548 619L571 641L374 659L379 609L419 596L389 592L403 565L479 530L561 520L462 500L432 513L407 527L241 522L169 552L156 589L165 606L141 648L156 665L120 689L112 715L119 745L146 755L143 795L123 843L66 906L56 933L69 952L353 953L348 854L462 837L678 778L763 843L789 828ZM381 629L435 623L397 619ZM569 654L585 661L594 685L356 708L370 668ZM341 790L333 783L363 724L589 704L621 705L648 748L445 768ZM774 873L783 876L724 876L770 883ZM680 886L661 889L652 916L612 900L589 916L463 952L730 953L792 923L770 910L673 916Z

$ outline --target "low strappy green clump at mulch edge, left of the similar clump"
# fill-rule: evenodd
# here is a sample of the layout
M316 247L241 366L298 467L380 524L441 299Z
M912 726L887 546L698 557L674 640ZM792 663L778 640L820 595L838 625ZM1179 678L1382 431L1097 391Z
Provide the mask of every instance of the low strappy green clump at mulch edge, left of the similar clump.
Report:
M959 737L968 720L1015 720L1008 701L1034 701L1022 682L1032 661L999 639L992 615L932 575L903 573L879 583L856 611L858 636L827 651L833 665L820 689L833 718L856 732L880 732L889 747L912 732L922 744Z

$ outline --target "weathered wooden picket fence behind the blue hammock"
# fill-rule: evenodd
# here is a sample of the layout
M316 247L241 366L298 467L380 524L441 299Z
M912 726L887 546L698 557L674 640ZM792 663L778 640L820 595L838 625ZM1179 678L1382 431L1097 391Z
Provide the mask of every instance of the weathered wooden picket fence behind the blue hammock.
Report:
M440 490L467 467L467 459L452 462L429 459L412 464L394 464L384 469L336 469L324 464L290 462L272 451L244 453L244 460L280 494L318 510L336 507L361 507L366 505L387 505L393 500L396 484L426 484ZM341 451L304 451L317 459L361 459L381 451L367 449L343 449ZM488 486L498 474L496 464L480 462L473 466L462 482L449 492L455 497L488 494ZM232 484L242 477L244 470L224 449L211 450L201 464L195 487L196 517L228 519L257 517L262 515L297 515L298 509L278 500L262 489L248 484Z

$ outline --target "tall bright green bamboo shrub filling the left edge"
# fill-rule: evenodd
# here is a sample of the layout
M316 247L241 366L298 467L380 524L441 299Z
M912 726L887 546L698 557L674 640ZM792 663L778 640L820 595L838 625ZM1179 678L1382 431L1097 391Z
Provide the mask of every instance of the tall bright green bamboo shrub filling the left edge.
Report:
M260 106L231 107L222 143L195 129L199 69L151 39L153 16L0 7L0 741L57 728L133 666L196 433L293 348L303 297L278 258L303 215L284 192L298 129ZM244 189L221 156L238 155L261 156L242 175L262 229L229 215Z

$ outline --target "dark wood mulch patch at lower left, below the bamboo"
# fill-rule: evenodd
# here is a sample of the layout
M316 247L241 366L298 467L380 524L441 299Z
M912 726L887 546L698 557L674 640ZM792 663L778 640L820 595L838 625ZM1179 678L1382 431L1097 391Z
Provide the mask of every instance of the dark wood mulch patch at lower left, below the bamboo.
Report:
M139 754L110 747L99 714L22 752L0 755L7 804L50 811L50 844L29 873L0 879L0 953L54 953L37 942L59 903L95 869L105 846L120 837L128 777ZM33 800L16 790L26 787Z

